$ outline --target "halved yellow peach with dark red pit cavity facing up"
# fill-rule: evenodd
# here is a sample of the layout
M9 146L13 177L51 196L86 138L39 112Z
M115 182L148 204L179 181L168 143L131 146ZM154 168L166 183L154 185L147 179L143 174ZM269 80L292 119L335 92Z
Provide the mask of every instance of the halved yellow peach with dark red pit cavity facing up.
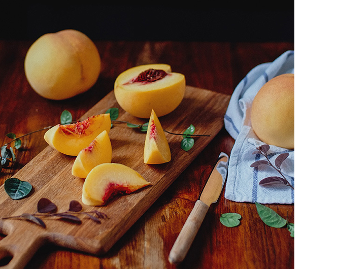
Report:
M163 63L143 64L122 72L115 80L114 93L123 110L139 118L158 117L175 110L185 92L185 76Z

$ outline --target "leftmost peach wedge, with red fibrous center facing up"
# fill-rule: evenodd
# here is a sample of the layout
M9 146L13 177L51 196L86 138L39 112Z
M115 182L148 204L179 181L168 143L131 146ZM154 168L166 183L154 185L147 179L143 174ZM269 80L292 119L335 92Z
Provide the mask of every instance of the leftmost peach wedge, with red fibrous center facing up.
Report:
M45 141L57 151L77 156L99 133L111 128L110 114L99 114L72 124L58 124L46 131Z

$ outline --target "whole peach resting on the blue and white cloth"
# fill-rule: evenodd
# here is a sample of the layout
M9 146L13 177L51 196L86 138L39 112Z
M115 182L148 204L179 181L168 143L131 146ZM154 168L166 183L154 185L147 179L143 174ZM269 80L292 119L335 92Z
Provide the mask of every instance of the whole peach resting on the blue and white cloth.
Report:
M294 148L294 74L266 82L252 102L251 125L264 143Z

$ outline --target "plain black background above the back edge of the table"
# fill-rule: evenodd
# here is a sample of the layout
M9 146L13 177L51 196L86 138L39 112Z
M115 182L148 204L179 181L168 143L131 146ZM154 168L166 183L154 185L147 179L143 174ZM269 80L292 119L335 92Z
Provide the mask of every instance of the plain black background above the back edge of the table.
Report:
M152 3L5 4L0 39L36 40L47 32L73 28L92 40L294 42L293 2L284 2L283 9L258 4L255 8L228 8L208 5L208 1L193 8Z

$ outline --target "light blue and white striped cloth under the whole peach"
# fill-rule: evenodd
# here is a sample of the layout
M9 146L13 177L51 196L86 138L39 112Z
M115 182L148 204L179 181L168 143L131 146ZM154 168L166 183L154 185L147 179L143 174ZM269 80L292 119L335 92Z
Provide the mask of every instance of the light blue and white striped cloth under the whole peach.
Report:
M250 165L265 157L252 154L256 147L263 143L255 136L250 124L250 108L258 90L270 79L286 73L294 73L294 51L286 51L273 62L257 65L239 83L233 91L230 103L224 116L225 128L235 139L232 148L228 176L225 187L225 198L239 202L262 204L293 204L294 191L285 185L260 186L258 183L269 176L280 176L273 167ZM248 113L247 113L248 110ZM268 153L272 163L279 153L290 155L282 163L281 171L294 186L294 150L269 145Z

